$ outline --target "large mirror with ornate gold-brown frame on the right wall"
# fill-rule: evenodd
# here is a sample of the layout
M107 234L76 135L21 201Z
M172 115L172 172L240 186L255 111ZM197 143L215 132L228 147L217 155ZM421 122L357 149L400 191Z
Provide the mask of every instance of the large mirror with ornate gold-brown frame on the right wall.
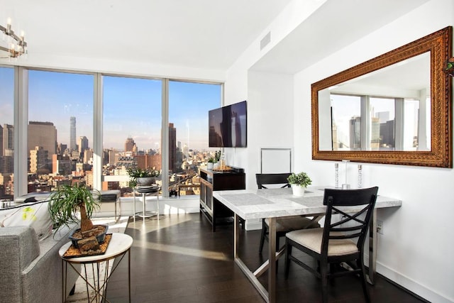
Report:
M452 167L452 32L312 84L312 159Z

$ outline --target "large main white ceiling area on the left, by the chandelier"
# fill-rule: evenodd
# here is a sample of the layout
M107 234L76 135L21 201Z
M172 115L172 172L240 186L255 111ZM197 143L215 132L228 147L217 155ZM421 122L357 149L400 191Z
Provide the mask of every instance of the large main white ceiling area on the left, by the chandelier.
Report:
M226 70L290 1L0 0L0 24L29 54Z

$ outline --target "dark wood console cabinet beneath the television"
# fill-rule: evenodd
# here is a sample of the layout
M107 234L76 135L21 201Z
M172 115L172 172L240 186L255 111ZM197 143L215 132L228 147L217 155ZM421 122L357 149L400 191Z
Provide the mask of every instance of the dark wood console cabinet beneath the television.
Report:
M234 167L228 172L200 169L200 213L206 216L216 231L216 224L232 223L233 212L213 198L214 190L245 189L245 173Z

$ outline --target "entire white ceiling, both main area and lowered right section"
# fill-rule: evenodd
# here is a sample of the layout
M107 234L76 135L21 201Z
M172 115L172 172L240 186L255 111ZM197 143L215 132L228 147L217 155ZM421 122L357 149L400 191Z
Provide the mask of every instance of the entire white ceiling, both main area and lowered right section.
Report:
M427 1L328 0L252 68L294 74ZM0 24L11 17L16 32L26 31L31 55L223 71L290 2L0 0Z

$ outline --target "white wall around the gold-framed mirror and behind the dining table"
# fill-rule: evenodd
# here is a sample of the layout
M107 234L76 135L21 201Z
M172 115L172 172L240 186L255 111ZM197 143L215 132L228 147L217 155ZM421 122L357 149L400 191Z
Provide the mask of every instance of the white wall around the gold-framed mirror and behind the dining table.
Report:
M274 145L272 140L277 138L277 133L290 129L284 123L274 128L271 136L270 131L260 131L270 128L270 116L279 121L293 120L293 142L284 139L284 142L275 141L275 146L294 147L294 170L308 172L315 185L333 185L333 162L311 160L311 83L453 24L453 1L428 1L301 70L294 75L292 85L270 85L288 79L282 75L252 71L246 74L253 60L261 57L260 53L251 55L253 52L246 50L247 55L228 72L226 101L249 101L248 119L253 124L248 125L248 148L235 155L235 161L247 167L247 186L255 187L252 175L260 169L257 164L260 145ZM271 94L282 94L282 89L289 87L294 89L293 106L286 103L288 111L282 111L281 101ZM266 105L261 106L262 102ZM363 186L377 185L380 194L402 199L403 203L399 209L378 211L384 234L378 238L377 272L430 302L454 302L454 241L449 224L454 214L454 170L367 163L362 165L362 170ZM349 178L356 178L355 163L350 165Z

